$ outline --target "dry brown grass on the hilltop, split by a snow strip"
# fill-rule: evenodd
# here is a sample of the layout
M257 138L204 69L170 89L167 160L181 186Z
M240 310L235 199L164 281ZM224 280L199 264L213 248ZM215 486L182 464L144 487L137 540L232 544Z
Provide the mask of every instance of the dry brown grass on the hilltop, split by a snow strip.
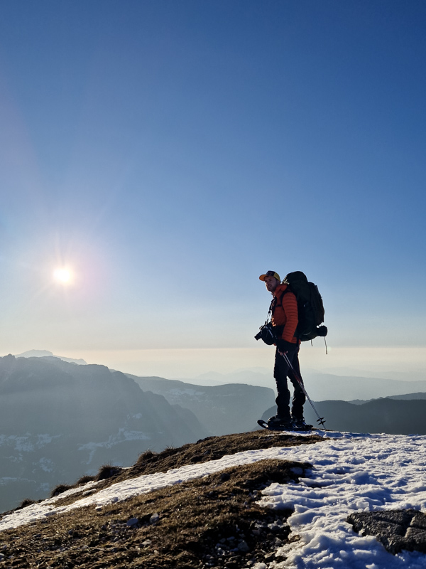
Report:
M145 453L132 469L99 482L96 488L241 450L317 440L258 431L212 437L181 449ZM268 562L288 539L290 511L261 508L256 503L260 491L271 482L297 481L296 473L309 466L259 461L102 509L90 506L3 531L0 568L239 569Z

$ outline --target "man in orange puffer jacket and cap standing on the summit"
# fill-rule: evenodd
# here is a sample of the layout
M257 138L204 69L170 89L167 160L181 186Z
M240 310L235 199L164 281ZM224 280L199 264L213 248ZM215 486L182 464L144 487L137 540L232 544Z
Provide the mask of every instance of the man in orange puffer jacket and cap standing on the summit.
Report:
M288 285L281 285L280 276L275 271L268 271L259 279L265 282L266 289L273 295L271 320L278 337L273 368L278 392L275 400L277 414L268 420L268 426L276 429L303 428L305 427L303 405L306 398L300 386L300 382L303 383L298 358L300 341L295 336L298 322L296 297L288 289ZM293 383L294 388L291 414L287 378Z

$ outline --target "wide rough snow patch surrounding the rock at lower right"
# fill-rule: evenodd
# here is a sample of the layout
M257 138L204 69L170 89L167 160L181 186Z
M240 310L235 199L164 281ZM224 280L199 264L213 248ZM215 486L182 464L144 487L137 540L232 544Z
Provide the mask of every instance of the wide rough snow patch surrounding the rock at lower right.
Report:
M294 508L288 522L301 538L278 550L287 559L273 567L425 568L425 555L393 556L346 522L352 511L426 509L425 443L426 437L366 435L292 448L290 459L315 467L299 484L271 484L263 491L261 505Z

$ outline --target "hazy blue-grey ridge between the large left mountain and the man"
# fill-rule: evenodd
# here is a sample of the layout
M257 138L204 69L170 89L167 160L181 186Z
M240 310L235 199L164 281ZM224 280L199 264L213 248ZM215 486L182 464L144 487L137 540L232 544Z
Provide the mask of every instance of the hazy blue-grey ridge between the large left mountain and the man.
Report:
M164 378L133 378L141 389L163 395L171 405L180 405L196 415L212 435L245 432L253 428L275 395L272 389L231 383L226 385L193 385Z

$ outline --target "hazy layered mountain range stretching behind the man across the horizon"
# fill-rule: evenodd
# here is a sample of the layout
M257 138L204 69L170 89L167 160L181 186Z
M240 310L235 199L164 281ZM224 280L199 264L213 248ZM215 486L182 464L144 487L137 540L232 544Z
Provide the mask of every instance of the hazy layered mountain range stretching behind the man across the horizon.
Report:
M262 371L197 385L65 359L50 351L0 358L0 510L45 497L102 464L126 466L148 449L251 431L258 418L275 414L273 378ZM268 388L242 383L256 374ZM324 375L305 384L331 430L426 434L424 381ZM341 393L353 400L339 400ZM309 403L305 416L316 425Z

